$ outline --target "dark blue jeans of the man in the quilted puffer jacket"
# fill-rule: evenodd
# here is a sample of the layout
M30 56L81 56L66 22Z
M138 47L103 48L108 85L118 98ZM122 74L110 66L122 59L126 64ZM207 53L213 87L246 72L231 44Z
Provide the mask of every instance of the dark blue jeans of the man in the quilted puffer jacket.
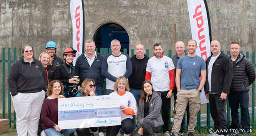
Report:
M232 129L238 129L239 116L238 108L241 106L241 124L243 129L250 129L250 115L249 115L249 91L236 93L230 91L228 94L229 106L231 109Z

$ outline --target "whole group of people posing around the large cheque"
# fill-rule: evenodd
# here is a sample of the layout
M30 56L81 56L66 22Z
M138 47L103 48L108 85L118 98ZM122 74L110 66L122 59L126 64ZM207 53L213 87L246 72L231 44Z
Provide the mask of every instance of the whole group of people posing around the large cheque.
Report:
M187 111L188 136L195 136L200 92L204 88L209 99L216 135L227 135L218 129L228 129L225 113L228 98L232 115L232 129L238 129L238 107L242 110L242 127L249 129L249 85L255 80L253 64L240 53L238 42L230 45L230 56L220 52L220 43L211 42L211 53L206 62L196 55L197 42L189 40L187 53L184 42L175 43L176 54L164 55L161 43L153 46L154 56L145 55L144 45L135 47L135 55L120 52L119 40L110 43L111 53L102 56L95 51L93 40L85 41L85 52L73 59L76 50L67 48L63 59L56 56L56 43L50 41L45 52L34 58L33 47L21 49L21 59L12 65L8 77L17 118L18 136L73 135L104 136L104 127L61 129L58 126L57 99L104 95L120 97L121 125L108 126L107 136L134 134L181 136L183 115ZM78 87L80 88L78 89ZM45 95L46 94L46 95ZM171 133L168 128L170 98L174 96L175 113ZM161 112L160 112L161 111ZM135 115L137 114L137 130ZM39 122L39 125L38 125ZM248 131L243 135L248 136ZM238 134L231 133L231 136Z

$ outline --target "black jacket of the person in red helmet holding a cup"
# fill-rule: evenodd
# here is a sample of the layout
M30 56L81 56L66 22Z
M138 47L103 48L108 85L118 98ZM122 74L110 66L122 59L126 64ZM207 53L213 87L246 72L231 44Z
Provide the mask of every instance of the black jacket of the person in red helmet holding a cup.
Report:
M71 75L66 70L64 65L68 68ZM55 70L55 73L54 73L54 79L55 80L60 80L62 82L63 87L64 87L63 95L65 97L75 97L76 96L76 94L73 94L71 92L71 90L73 89L73 87L78 89L77 84L69 83L69 79L73 78L73 76L75 76L75 75L76 75L75 67L72 64L68 65L68 64L64 63L62 65L56 66L56 70Z

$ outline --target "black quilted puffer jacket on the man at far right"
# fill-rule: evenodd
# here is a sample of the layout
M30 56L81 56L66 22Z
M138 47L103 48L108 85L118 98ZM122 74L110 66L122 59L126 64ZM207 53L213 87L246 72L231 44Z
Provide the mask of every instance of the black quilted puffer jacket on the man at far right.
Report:
M231 58L231 55L230 55ZM237 59L233 62L233 79L230 87L230 91L233 92L245 92L249 91L250 85L255 80L254 66L245 58L243 54L239 54Z

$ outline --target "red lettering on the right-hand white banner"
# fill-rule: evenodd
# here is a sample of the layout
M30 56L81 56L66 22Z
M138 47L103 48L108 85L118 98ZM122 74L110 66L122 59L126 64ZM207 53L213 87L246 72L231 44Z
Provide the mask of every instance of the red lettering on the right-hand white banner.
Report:
M199 8L201 8L201 5L198 5L196 7L196 9L194 11L193 19L196 18L196 20L197 20L197 28L199 28L197 36L198 36L198 39L200 40L199 49L201 51L201 57L203 58L203 56L205 56L205 60L204 61L206 61L207 60L206 46L202 47L202 44L205 43L205 36L204 35L200 35L200 33L204 31L204 28L202 27L203 24L204 24L204 20L203 20L202 12L198 12Z

